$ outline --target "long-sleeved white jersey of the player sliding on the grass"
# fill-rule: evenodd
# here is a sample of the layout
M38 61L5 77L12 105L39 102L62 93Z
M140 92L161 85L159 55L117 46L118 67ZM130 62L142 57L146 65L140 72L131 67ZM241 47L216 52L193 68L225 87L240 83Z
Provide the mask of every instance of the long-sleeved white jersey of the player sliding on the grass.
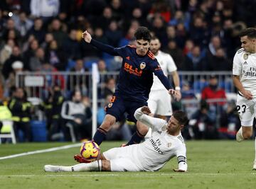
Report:
M134 116L151 127L152 135L142 144L129 146L132 148L132 161L135 161L143 171L158 171L169 159L177 156L178 168L186 171L186 145L181 134L171 136L166 132L165 120L145 115L141 108L136 110Z

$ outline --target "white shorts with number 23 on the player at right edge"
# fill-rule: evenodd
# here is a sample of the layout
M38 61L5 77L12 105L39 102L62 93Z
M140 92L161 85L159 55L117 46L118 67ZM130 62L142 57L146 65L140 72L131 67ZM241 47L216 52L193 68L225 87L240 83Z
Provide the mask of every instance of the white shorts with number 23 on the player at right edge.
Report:
M252 127L256 112L256 99L252 98L252 100L247 100L245 97L238 94L236 105L241 125L244 127Z

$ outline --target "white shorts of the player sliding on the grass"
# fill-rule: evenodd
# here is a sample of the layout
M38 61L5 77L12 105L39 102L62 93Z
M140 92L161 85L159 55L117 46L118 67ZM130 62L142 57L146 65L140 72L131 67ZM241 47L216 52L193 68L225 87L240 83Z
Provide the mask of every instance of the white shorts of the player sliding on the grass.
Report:
M103 156L110 160L111 171L142 171L133 161L131 151L132 146L113 148L103 152Z

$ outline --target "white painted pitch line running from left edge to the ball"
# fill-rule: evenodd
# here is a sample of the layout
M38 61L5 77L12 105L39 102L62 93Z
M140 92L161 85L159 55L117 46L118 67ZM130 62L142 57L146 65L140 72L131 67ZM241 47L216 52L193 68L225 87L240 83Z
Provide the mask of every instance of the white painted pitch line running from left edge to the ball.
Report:
M21 153L21 154L3 156L3 157L0 157L0 160L11 159L11 158L19 157L19 156L28 156L28 155L31 155L31 154L41 154L41 153L45 153L45 152L49 152L49 151L57 151L57 150L60 150L60 149L70 149L70 148L73 148L73 147L80 147L80 146L81 146L81 144L79 143L79 144L65 145L63 147L54 147L54 148L50 148L50 149L41 149L41 150L36 150L36 151L28 151L28 152L24 152L24 153Z

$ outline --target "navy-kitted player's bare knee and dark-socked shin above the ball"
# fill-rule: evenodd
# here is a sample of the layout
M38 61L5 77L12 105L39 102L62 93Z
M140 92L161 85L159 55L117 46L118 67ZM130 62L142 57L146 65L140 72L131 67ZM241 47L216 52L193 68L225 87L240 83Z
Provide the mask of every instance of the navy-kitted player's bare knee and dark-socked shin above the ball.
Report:
M93 140L100 145L102 141L105 139L107 132L110 130L112 125L116 122L116 118L113 115L107 114L105 116L102 125L97 129L95 135L93 136Z

